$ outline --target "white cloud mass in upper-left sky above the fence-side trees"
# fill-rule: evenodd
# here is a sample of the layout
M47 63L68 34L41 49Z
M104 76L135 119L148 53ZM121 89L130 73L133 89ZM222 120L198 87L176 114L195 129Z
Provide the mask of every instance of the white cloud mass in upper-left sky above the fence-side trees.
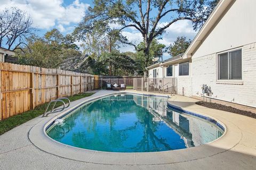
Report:
M63 4L63 0L1 0L0 10L10 7L27 11L34 20L34 27L39 29L57 27L64 32L68 25L82 21L84 11L89 4L79 0L68 6Z

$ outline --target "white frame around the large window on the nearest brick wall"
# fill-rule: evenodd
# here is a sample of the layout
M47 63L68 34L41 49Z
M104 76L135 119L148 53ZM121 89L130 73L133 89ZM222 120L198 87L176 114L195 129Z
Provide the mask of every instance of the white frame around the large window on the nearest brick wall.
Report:
M236 50L240 50L241 49L241 59L242 59L242 79L241 80L233 80L233 79L228 79L228 80L220 80L219 79L219 55L221 54L224 54L224 53L229 53L230 52L234 52ZM228 68L229 68L229 64L228 64ZM242 47L237 47L237 48L233 48L233 49L229 49L229 50L226 50L226 51L223 51L223 52L220 52L220 53L217 53L216 54L216 70L217 70L217 75L216 75L216 82L217 84L238 84L238 85L242 85L243 82L244 82L244 68L243 68L243 48ZM229 69L228 69L229 70ZM229 75L229 74L228 74Z

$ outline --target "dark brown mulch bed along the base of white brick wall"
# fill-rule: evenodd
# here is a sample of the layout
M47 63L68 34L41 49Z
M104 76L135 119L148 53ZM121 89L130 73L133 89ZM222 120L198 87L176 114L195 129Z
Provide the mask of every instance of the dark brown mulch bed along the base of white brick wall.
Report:
M242 111L242 110L239 110L239 109L231 107L231 106L225 106L225 105L221 105L221 104L217 104L217 103L209 103L209 102L204 102L204 101L197 101L196 104L200 105L200 106L208 107L208 108L214 108L214 109L218 109L221 111L232 112L232 113L256 118L255 113L248 112L248 111Z

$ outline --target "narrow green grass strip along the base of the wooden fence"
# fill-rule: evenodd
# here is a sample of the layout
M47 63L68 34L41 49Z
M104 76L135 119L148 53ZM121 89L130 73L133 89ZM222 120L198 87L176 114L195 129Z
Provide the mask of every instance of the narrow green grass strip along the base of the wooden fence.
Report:
M68 98L70 101L75 101L84 97L91 96L93 94L94 94L93 92L89 92L89 93L77 94ZM25 123L39 115L42 115L47 107L47 104L48 103L45 103L43 105L37 106L34 110L30 110L22 114L18 114L0 121L0 135L7 131L10 131L11 129L21 125L22 123ZM55 107L59 107L59 106L61 106L61 104L57 103ZM52 107L50 106L49 109L50 108Z

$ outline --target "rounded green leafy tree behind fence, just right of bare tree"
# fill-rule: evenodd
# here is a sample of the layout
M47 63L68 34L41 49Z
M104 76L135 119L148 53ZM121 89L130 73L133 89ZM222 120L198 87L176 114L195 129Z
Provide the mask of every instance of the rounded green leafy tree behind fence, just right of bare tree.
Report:
M63 36L57 29L46 32L44 37L31 36L27 42L25 48L17 50L19 64L58 68L64 61L82 56L74 38Z

